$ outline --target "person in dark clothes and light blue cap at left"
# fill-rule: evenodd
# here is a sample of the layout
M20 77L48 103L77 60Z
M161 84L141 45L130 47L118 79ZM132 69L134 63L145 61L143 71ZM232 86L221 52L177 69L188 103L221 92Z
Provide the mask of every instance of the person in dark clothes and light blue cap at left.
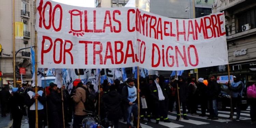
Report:
M13 127L20 128L22 117L24 115L24 96L19 94L18 88L12 89L13 96L10 97L8 103L7 113L11 111L12 118L13 118Z

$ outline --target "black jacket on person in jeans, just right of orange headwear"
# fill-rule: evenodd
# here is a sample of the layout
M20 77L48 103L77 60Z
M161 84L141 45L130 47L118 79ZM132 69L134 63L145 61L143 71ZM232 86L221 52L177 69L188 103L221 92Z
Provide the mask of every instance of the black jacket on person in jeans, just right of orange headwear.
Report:
M208 81L207 85L207 97L209 100L216 100L218 97L218 85L216 81Z

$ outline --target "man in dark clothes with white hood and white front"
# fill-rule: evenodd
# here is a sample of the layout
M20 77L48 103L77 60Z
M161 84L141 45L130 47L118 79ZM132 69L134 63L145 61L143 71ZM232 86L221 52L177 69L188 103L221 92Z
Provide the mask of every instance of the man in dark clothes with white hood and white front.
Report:
M152 104L155 110L156 124L159 121L170 123L168 119L168 86L163 82L163 76L156 76L153 84L150 85ZM160 116L160 117L159 117Z

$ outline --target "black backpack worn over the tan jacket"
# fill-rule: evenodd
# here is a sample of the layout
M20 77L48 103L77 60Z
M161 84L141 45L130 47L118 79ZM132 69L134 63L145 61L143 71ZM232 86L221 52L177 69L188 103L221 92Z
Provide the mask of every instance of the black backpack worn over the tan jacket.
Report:
M85 90L85 95L86 95L86 99L84 103L84 108L87 111L95 111L95 106L94 106L94 100L95 97L93 95L90 94L90 91L88 88L85 88L84 86L80 86L81 88L83 88Z

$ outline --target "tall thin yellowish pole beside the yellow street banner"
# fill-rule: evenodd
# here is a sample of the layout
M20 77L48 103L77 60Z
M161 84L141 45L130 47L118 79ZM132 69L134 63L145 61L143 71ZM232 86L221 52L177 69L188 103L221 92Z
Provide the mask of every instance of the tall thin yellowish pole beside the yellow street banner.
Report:
M15 8L14 8L14 0L13 0L13 86L16 88L16 70L15 70Z

